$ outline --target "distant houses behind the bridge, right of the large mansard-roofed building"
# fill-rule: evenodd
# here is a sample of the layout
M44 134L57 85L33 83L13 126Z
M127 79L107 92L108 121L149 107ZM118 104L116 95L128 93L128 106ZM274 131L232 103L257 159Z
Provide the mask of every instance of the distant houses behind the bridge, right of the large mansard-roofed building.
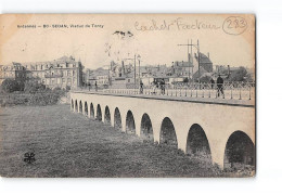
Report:
M213 73L213 62L209 54L200 53L200 74L198 57L194 55L195 64L191 61L175 61L171 65L136 65L121 61L120 63L111 62L107 69L98 68L86 69L86 82L112 88L133 87L142 80L143 85L158 82L165 79L167 83L182 82L184 79L197 79L198 76Z

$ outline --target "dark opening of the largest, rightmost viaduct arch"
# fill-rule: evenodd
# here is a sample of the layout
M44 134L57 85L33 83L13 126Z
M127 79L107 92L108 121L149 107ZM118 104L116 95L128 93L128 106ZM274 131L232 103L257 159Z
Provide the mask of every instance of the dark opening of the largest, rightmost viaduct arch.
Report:
M234 131L228 139L225 151L225 168L255 166L255 145L243 131Z

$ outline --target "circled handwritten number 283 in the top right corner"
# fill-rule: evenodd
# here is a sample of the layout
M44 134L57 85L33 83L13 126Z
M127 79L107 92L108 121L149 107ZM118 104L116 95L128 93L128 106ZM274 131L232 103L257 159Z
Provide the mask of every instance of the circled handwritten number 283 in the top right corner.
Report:
M222 24L222 29L229 35L241 35L247 28L247 22L240 16L230 16Z

